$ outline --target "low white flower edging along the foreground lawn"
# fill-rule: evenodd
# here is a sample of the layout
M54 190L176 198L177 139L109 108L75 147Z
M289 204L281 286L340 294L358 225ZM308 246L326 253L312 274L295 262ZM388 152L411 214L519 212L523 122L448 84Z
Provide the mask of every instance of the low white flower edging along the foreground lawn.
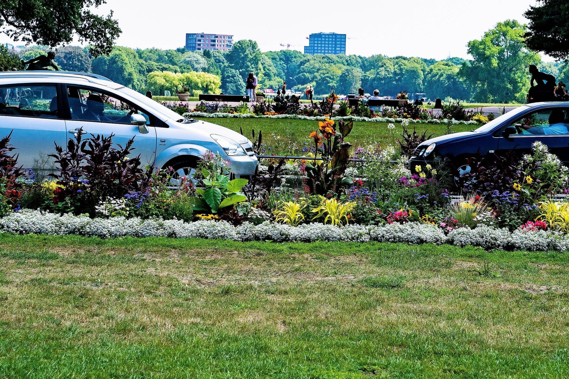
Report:
M0 230L15 234L83 235L99 238L170 237L230 239L236 241L314 242L354 241L409 244L453 244L485 249L519 249L526 251L568 251L569 236L544 230L497 229L479 226L458 228L445 234L442 228L418 222L384 226L349 224L339 227L320 223L287 224L249 222L233 226L225 221L163 220L159 218L89 218L87 215L58 215L40 210L20 210L0 219Z

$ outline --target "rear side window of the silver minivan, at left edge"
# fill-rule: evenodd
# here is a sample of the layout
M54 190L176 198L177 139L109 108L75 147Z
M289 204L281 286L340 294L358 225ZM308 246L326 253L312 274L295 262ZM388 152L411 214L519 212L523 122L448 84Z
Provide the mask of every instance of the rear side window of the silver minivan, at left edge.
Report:
M0 87L0 116L57 118L55 85Z

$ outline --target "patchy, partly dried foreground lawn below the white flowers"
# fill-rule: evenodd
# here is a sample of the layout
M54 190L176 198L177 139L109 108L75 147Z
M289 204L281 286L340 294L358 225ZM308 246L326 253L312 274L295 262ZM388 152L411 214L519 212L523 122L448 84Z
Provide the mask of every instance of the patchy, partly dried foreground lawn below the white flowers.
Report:
M0 235L0 378L562 378L569 259Z

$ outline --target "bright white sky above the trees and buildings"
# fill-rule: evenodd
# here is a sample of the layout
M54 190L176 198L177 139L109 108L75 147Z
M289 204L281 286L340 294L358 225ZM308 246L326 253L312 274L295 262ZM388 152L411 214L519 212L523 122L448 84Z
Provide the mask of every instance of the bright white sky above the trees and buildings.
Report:
M117 45L174 49L186 33L232 34L257 41L261 51L290 44L304 51L311 33L347 34L346 53L469 58L467 43L496 23L516 19L535 0L261 1L107 0L122 28ZM0 41L8 41L0 36ZM18 44L18 43L16 43ZM545 57L545 60L550 60Z

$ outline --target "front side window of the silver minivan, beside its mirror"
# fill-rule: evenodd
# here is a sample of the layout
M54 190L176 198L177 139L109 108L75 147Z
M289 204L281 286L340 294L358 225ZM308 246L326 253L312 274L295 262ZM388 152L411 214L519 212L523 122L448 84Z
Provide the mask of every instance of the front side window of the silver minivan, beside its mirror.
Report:
M150 124L150 117L134 105L105 91L67 88L71 118L81 121L110 122L130 125L130 115L138 113Z

